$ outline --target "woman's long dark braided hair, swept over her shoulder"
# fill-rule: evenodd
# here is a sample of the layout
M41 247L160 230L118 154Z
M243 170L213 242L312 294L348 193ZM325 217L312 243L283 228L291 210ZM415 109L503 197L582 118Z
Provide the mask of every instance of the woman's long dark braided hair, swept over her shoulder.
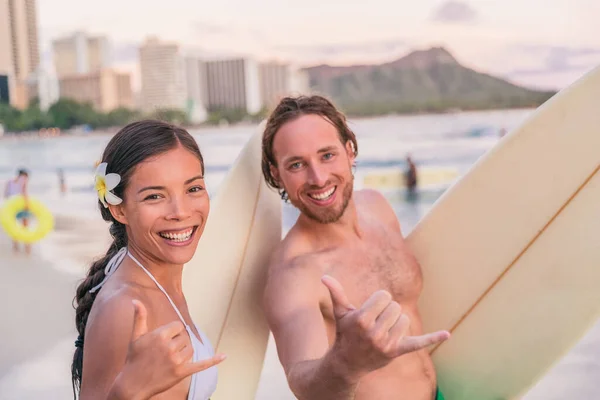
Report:
M125 200L125 189L136 166L150 157L163 154L177 146L184 147L198 157L204 173L204 160L198 144L185 129L155 120L133 122L125 126L106 145L102 155L101 162L108 164L106 173L116 173L121 176L119 185L112 192ZM98 201L98 207L102 218L111 223L109 231L113 237L113 243L104 257L92 263L87 277L77 287L74 299L75 325L79 332L79 337L75 342L73 364L71 365L75 398L79 396L81 390L85 326L98 293L90 293L90 289L104 279L104 269L108 261L117 254L120 248L127 246L128 242L125 225L114 219L109 209L105 208L100 201Z

